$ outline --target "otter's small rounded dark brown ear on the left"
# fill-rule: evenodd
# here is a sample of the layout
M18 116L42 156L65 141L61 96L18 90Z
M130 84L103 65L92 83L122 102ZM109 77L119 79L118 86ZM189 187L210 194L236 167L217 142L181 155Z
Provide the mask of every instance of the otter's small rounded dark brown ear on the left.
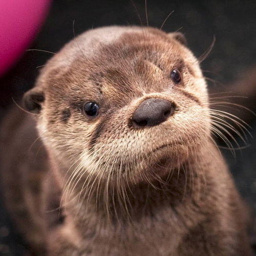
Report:
M39 88L33 88L23 96L23 102L27 111L38 114L41 110L41 103L45 101L45 94Z

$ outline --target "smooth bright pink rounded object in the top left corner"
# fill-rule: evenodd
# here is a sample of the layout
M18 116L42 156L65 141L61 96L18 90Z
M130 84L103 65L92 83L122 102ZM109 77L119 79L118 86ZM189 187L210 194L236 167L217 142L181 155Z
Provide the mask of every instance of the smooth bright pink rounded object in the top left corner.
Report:
M29 47L52 0L0 0L0 76Z

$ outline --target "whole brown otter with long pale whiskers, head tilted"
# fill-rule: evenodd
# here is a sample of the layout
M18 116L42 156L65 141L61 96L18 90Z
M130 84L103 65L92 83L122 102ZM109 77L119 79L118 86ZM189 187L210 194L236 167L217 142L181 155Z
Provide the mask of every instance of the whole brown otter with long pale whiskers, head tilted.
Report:
M3 193L35 255L252 255L184 36L111 26L41 69L1 131Z

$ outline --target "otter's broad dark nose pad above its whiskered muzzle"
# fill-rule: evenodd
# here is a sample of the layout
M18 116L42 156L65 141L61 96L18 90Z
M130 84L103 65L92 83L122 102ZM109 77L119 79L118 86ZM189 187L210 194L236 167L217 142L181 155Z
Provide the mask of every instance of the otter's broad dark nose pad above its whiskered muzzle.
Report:
M134 112L132 122L135 127L154 126L166 121L174 112L174 104L165 99L146 99Z

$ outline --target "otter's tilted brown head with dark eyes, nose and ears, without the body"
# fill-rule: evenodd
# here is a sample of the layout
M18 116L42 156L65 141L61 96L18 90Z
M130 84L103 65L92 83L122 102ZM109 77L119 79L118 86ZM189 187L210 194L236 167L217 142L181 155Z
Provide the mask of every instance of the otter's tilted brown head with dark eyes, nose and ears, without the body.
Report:
M77 174L131 182L179 167L209 137L199 63L157 29L86 32L42 70L25 97L51 154Z

